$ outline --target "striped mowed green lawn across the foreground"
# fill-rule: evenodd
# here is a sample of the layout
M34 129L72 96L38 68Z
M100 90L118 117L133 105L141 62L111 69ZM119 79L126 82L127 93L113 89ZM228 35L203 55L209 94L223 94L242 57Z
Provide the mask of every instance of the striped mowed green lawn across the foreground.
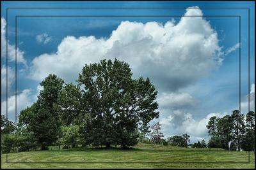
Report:
M139 144L120 148L76 148L2 154L2 168L254 168L254 152ZM26 162L26 163L25 163Z

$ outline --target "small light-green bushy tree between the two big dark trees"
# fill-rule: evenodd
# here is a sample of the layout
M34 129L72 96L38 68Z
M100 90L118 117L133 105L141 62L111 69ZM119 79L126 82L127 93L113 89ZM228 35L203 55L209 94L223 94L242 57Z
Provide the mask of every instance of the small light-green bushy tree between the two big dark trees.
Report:
M63 148L76 148L79 143L79 127L78 125L70 125L61 127Z

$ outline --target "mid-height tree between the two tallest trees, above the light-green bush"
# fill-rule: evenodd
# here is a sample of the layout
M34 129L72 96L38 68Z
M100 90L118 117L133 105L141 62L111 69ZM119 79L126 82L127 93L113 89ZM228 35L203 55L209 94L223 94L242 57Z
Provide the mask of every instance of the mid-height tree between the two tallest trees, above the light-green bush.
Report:
M81 120L81 90L72 83L60 90L58 111L64 125L78 125Z

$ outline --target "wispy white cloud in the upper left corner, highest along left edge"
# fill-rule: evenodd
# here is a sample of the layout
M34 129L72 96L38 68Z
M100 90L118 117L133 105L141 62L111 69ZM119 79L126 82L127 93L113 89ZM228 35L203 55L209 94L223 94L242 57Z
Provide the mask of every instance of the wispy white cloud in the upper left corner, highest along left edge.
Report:
M1 18L1 57L6 57L6 21ZM8 59L15 61L15 45L11 45L8 41ZM17 48L17 62L20 62L27 66L27 62L24 59L24 52Z

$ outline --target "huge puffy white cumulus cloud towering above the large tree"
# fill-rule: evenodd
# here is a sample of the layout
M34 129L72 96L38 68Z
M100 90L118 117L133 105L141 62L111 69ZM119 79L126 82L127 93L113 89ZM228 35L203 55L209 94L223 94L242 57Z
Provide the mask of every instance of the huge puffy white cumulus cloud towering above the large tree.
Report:
M203 14L189 8L184 15ZM177 24L124 21L109 38L67 36L56 53L33 59L29 76L40 81L54 73L70 82L84 64L117 58L130 64L134 76L150 77L157 89L177 90L217 69L220 54L217 32L202 17L182 17Z

